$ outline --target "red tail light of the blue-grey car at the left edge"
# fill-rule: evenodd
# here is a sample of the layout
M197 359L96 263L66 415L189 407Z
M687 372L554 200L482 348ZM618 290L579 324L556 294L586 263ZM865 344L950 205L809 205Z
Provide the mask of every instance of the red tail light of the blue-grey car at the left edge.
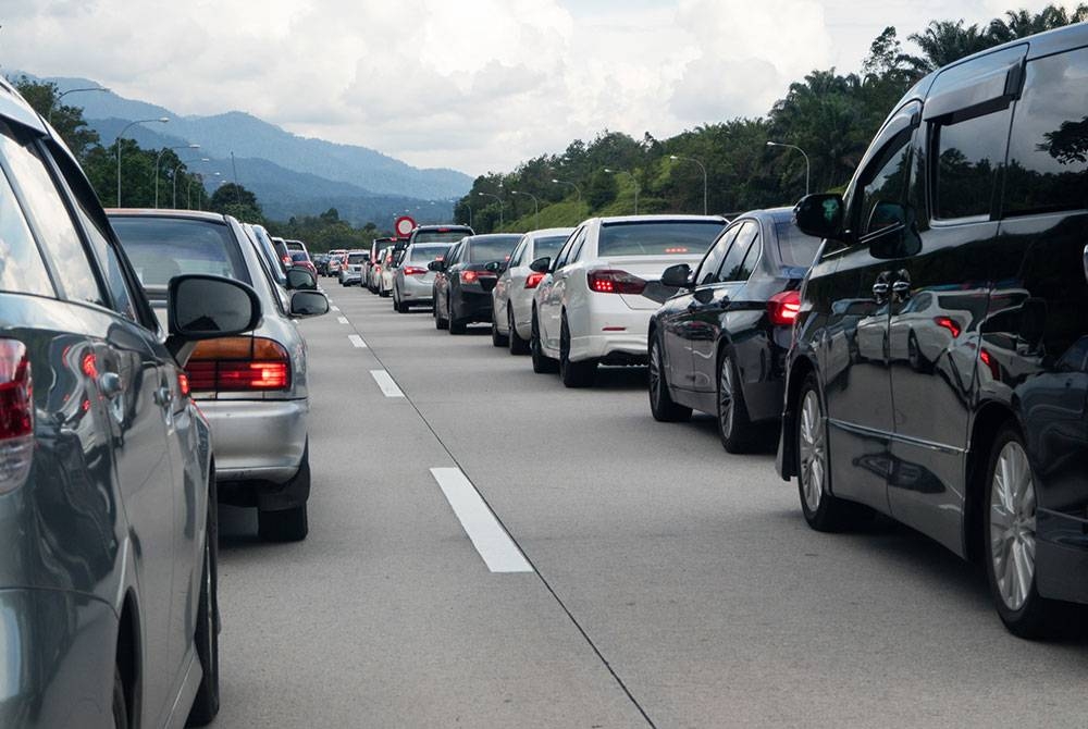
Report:
M0 339L0 493L26 481L34 457L34 380L26 345Z

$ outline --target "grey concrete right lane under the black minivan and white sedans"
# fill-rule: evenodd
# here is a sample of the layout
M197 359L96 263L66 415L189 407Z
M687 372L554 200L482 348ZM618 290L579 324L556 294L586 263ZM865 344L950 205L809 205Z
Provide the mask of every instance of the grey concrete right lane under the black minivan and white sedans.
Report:
M813 532L769 457L654 422L607 370L607 392L566 391L486 339L379 319L391 369L663 726L1083 719L1084 642L1011 637L980 570L931 541Z

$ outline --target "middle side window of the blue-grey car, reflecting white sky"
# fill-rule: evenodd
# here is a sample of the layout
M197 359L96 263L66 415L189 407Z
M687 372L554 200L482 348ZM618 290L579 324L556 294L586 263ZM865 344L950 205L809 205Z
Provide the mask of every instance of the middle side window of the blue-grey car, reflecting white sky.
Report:
M37 151L0 134L0 155L11 165L33 227L52 263L64 295L76 301L106 306L87 250L79 239L60 189Z

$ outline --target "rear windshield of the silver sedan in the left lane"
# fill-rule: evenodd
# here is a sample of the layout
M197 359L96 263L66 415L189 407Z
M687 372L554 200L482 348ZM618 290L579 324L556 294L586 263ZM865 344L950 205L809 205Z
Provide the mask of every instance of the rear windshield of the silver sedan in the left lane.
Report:
M183 273L210 273L251 283L226 225L202 220L111 218L144 286L165 286Z

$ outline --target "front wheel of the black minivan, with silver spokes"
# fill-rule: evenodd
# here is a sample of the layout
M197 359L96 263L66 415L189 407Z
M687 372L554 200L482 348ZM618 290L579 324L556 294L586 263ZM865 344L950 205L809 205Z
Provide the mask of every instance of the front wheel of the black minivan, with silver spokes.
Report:
M849 528L865 511L865 507L831 494L824 398L820 396L816 374L812 372L801 385L795 436L798 491L805 521L820 532L834 532Z

